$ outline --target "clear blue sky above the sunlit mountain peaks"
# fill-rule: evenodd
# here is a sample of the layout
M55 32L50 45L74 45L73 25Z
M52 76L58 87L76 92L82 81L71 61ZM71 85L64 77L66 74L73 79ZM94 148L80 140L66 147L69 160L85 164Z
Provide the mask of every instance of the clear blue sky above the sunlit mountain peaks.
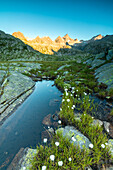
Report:
M111 35L113 0L2 0L0 30L53 40L65 34L79 40Z

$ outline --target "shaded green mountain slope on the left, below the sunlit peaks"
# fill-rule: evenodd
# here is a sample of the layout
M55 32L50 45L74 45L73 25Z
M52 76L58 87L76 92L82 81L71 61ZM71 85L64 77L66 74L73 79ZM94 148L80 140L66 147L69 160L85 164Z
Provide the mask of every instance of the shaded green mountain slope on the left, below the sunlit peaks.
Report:
M39 54L20 39L0 31L0 60L30 58Z

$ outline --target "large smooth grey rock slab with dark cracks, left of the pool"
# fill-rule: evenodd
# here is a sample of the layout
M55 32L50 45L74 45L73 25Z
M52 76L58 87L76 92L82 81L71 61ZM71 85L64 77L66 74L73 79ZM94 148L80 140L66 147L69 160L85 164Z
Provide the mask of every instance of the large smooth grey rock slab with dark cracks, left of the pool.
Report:
M20 105L32 92L35 82L31 78L14 73L7 77L3 87L3 94L0 96L0 122Z

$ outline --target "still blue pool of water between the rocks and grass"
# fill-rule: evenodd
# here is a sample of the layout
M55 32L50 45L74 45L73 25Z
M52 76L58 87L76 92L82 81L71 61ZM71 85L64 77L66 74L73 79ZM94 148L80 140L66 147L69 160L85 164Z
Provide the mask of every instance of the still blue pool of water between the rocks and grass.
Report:
M61 92L52 84L54 81L37 82L34 92L0 127L0 169L7 169L20 148L41 142L43 118L59 111L61 104Z

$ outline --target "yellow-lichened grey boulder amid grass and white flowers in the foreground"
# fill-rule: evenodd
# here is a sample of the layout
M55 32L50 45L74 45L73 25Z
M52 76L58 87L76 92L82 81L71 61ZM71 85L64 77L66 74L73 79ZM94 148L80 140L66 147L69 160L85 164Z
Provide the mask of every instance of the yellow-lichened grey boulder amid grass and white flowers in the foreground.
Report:
M70 142L74 142L74 145L79 145L81 149L85 146L89 148L89 144L91 143L89 139L84 136L81 132L79 132L73 126L65 126L65 128L59 128L56 130L56 133L62 132L62 135L70 140Z

